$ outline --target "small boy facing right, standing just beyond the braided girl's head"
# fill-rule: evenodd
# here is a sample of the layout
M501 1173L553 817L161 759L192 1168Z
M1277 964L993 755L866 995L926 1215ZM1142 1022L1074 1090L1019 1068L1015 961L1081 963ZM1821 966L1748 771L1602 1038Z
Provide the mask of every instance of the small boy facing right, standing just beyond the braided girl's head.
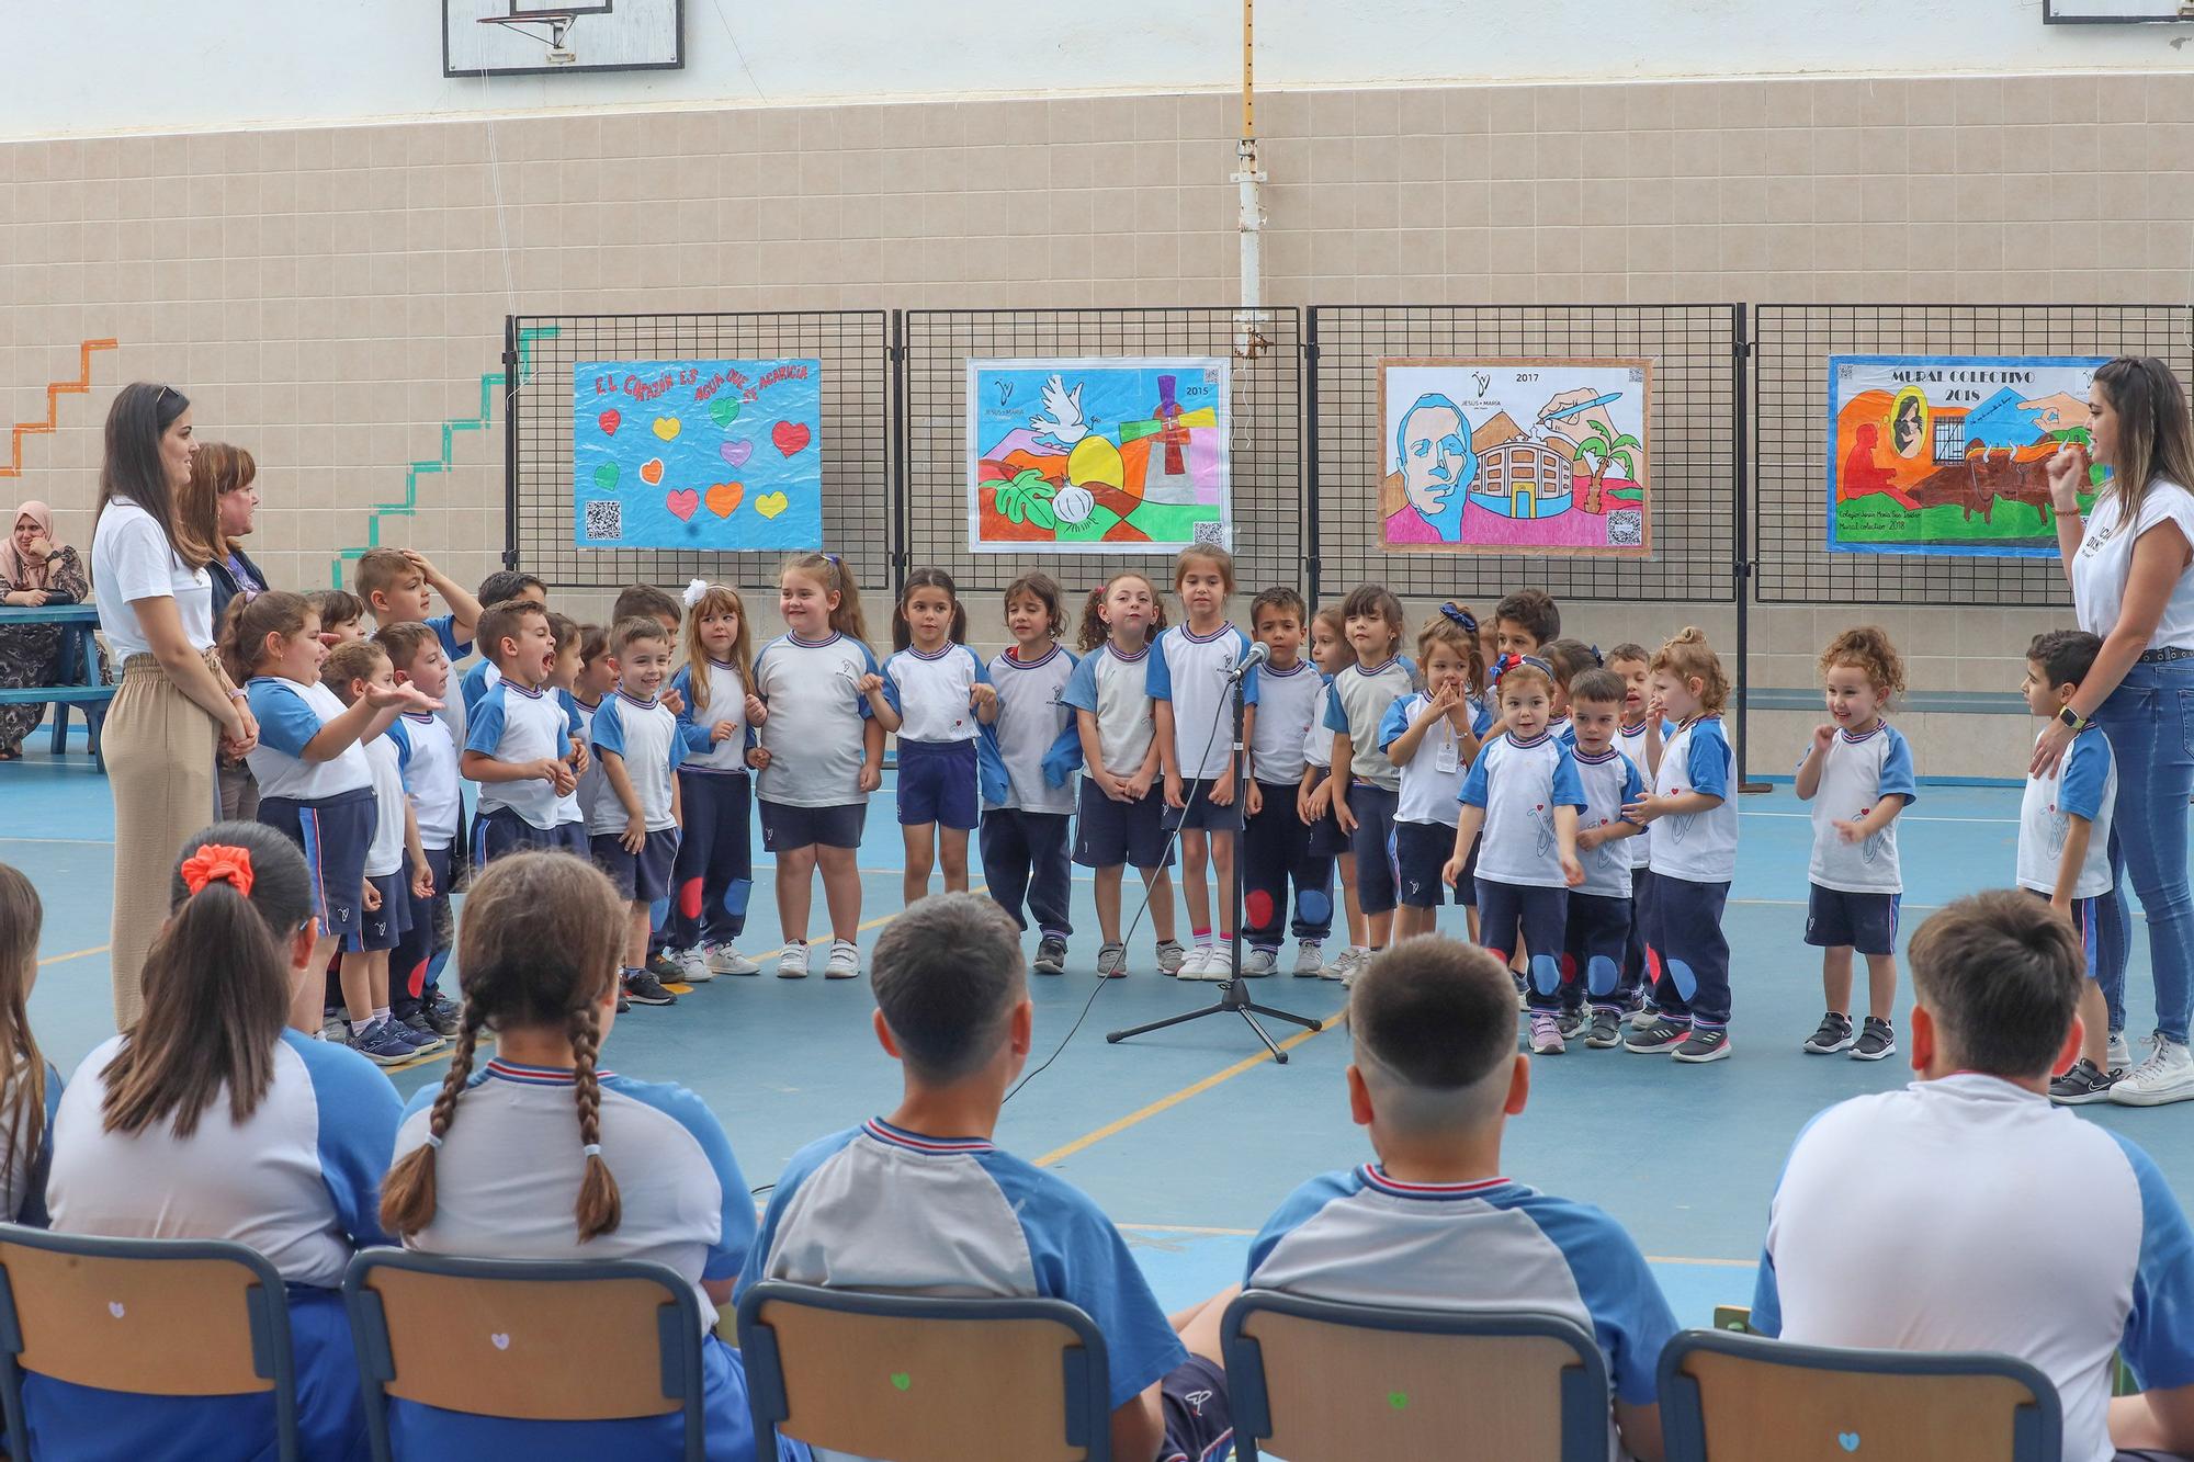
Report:
M548 612L524 599L498 604L480 615L478 637L502 678L480 696L459 760L459 773L480 784L472 867L522 847L568 852L557 841L555 806L579 788L579 777L564 762L564 707L546 689L555 670Z

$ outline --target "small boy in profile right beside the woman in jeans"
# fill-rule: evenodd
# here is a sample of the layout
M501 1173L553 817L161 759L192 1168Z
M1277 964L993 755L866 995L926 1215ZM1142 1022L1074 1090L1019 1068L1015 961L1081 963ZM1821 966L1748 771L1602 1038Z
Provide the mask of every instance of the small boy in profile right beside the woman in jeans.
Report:
M2100 652L2102 641L2084 630L2036 634L2018 685L2027 713L2056 720ZM2102 999L2108 942L2097 937L2102 907L2111 900L2115 806L2117 757L2111 753L2111 738L2093 722L2071 738L2051 775L2027 773L2027 792L2018 801L2018 887L2047 898L2051 909L2071 920L2086 961L2086 979L2080 981L2080 1060L2049 1082L2049 1100L2060 1106L2106 1102L2126 1076L2111 1067L2111 1012Z

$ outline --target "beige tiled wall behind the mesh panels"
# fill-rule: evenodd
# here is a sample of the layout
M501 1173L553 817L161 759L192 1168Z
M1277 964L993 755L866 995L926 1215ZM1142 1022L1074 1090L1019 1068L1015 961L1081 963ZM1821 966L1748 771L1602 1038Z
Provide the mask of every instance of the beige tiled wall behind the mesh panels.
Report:
M1283 92L1259 125L1281 305L2185 303L2194 279L2194 72ZM20 496L86 544L101 386L165 378L257 452L270 575L320 586L478 415L507 312L1224 305L1235 130L1226 97L1119 97L0 147L0 415L42 421L77 342L121 340L59 432L22 437ZM500 432L450 441L380 536L476 580ZM2058 619L1764 608L1757 681L1810 685L1861 617L1922 689L2016 681ZM1786 760L1779 720L1801 733L1764 720L1757 764ZM1988 771L1979 735L1950 724L1922 764Z

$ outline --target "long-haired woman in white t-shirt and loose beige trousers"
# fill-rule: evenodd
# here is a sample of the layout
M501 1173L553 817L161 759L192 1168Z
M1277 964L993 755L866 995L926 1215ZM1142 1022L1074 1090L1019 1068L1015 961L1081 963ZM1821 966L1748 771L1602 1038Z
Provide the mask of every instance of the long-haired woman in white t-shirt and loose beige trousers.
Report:
M219 819L215 755L259 740L250 707L213 654L211 551L176 516L191 481L191 402L132 382L108 411L92 529L99 628L121 663L103 749L114 790L114 1025L145 1008L145 951L167 920L169 863Z

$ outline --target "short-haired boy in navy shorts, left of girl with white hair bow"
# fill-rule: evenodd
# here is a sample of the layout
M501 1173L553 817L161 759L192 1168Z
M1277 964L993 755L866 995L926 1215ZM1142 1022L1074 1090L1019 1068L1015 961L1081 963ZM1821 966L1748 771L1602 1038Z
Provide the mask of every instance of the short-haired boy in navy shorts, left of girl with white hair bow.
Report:
M663 626L645 615L621 619L610 632L610 670L617 691L603 696L595 711L595 757L610 795L597 797L588 810L588 832L595 863L632 904L625 997L636 1005L667 1005L676 997L656 999L660 986L647 975L647 933L654 904L671 896L685 738L678 718L656 698L671 670Z

